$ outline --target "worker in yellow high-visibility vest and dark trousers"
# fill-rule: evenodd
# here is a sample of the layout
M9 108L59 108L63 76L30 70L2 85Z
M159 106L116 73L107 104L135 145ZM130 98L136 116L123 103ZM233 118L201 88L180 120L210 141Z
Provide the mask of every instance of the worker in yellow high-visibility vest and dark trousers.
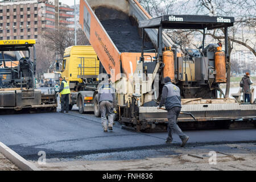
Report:
M68 82L64 79L63 77L59 77L60 80L60 93L61 93L61 113L68 113L69 110L69 94L70 94L70 89Z

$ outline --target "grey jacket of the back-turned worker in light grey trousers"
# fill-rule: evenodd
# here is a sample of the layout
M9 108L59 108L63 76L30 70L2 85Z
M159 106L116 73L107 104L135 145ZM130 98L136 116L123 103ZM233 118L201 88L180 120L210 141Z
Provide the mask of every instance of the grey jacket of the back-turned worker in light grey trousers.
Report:
M113 102L114 106L115 102L115 89L110 84L103 84L98 89L98 101L110 101Z

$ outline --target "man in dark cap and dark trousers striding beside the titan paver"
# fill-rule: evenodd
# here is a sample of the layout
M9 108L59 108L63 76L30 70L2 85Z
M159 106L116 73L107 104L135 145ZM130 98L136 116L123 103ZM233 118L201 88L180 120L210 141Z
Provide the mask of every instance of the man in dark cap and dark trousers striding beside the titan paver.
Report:
M180 89L176 85L172 84L170 77L164 78L164 84L158 109L165 106L168 111L168 137L166 139L166 143L171 143L172 134L177 133L182 141L181 147L183 147L187 143L189 137L185 135L177 125L177 118L179 117L181 110Z

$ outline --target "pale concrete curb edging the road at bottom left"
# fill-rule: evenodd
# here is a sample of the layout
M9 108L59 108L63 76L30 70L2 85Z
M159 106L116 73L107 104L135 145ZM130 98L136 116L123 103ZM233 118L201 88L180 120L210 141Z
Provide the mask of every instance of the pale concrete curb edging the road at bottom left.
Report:
M38 167L22 158L22 156L11 150L11 148L7 147L2 142L0 142L0 152L23 171L40 171Z

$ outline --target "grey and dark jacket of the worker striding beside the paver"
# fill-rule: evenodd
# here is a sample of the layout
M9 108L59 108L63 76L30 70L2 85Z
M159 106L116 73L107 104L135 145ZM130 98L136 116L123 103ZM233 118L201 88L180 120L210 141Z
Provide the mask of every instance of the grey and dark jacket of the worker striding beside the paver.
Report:
M163 87L159 106L162 107L163 105L166 106L166 110L170 110L173 107L181 107L180 89L171 82L168 82Z

